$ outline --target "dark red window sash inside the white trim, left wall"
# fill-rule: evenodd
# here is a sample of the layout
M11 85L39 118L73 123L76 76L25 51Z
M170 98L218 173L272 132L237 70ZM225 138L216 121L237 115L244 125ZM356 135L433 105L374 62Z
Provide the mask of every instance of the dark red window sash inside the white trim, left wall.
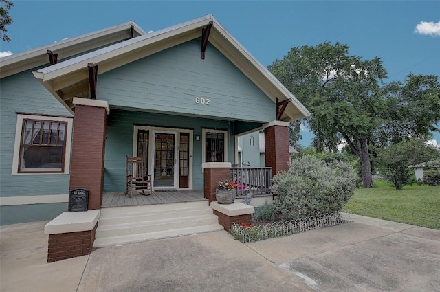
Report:
M19 172L63 172L67 122L23 119Z

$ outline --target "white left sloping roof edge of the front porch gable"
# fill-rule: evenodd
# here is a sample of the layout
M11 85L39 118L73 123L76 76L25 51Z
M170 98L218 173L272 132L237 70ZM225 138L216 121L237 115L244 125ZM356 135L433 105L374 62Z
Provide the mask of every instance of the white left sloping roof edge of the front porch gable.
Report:
M88 63L99 65L100 62L108 60L109 58L113 58L135 49L151 45L152 43L163 41L166 38L172 38L173 36L190 32L191 30L203 27L203 25L208 25L209 21L211 21L211 19L201 18L197 19L196 21L181 23L173 27L168 27L164 30L151 32L150 34L146 34L144 36L138 36L137 38L132 38L130 40L123 41L109 47L104 47L76 58L65 60L64 62L39 69L37 72L39 74L43 74L43 81L46 82L65 74L69 74L80 69L85 69ZM41 77L41 75L39 76Z

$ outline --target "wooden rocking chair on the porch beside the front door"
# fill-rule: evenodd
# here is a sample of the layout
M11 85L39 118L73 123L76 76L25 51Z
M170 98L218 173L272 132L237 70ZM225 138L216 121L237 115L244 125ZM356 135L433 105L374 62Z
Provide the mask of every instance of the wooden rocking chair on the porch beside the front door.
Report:
M144 175L144 165L141 157L126 157L125 195L131 198L133 190L146 196L153 192L151 175Z

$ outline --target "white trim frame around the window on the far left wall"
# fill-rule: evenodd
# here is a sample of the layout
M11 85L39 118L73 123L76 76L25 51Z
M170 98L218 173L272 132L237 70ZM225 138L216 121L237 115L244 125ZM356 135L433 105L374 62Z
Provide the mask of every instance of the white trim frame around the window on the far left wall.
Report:
M19 157L21 145L21 132L23 131L23 120L45 120L54 122L66 122L66 144L64 157L64 170L62 172L19 172ZM72 117L51 117L49 115L23 115L17 114L17 127L15 128L14 155L12 157L12 175L67 175L70 171L70 154L72 152L72 129L74 120Z

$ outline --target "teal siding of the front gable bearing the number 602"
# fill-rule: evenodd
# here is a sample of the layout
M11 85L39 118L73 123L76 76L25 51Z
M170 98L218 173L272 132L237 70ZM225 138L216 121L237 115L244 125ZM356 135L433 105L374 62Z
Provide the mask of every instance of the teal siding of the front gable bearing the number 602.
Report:
M206 58L200 58L199 39L100 74L97 96L125 109L275 120L274 102L215 47L208 44ZM209 99L210 105L197 104L196 97Z

